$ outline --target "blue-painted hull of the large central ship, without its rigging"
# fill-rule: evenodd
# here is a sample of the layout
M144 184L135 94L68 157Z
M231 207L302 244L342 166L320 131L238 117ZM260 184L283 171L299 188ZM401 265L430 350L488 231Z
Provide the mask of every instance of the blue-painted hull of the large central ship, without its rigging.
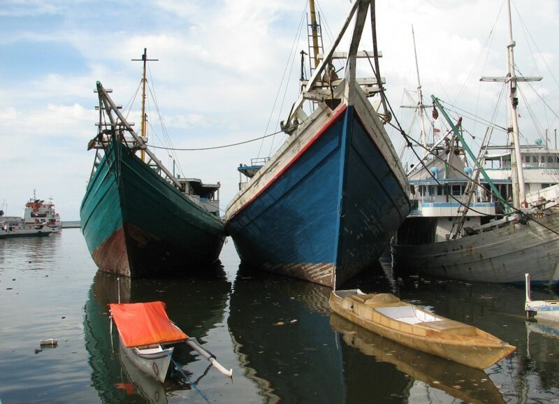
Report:
M249 266L337 287L377 261L409 213L393 169L354 107L344 107L226 214L226 232Z

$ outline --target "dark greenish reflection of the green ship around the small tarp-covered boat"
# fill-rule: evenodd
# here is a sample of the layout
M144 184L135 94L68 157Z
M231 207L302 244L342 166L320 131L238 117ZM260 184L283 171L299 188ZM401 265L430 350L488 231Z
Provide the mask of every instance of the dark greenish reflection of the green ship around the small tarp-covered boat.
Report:
M92 368L92 386L101 401L166 403L166 394L191 389L189 381L177 371L172 370L166 382L161 384L129 363L124 353L119 352L117 330L113 329L111 334L109 303L119 300L121 303L165 301L169 317L184 326L190 337L203 344L208 331L223 322L230 291L231 283L226 280L221 266L215 266L212 271L207 270L196 278L164 280L117 278L110 273L97 272L85 303L83 325ZM198 382L205 375L203 370L207 370L205 363L196 363L200 358L195 354L186 345L178 346L173 354L173 359L191 382ZM191 394L194 392L188 393Z

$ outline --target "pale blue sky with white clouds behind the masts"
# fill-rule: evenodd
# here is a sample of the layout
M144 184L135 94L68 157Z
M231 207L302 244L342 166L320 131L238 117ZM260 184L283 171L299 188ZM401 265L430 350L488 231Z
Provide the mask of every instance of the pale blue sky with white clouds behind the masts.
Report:
M349 1L318 5L327 46L326 24L337 31ZM552 73L559 72L559 3L514 0L512 7L518 70L544 76L521 103L553 132L559 127L559 77ZM175 147L227 145L277 131L297 97L299 59L288 59L292 49L307 50L305 31L296 38L304 10L305 0L3 0L0 204L20 215L36 189L41 199L52 196L63 220L79 219L94 157L87 142L96 134L95 82L126 105L141 78L140 62L131 59L143 48L159 59L150 63L148 79ZM413 24L423 94L491 117L500 86L480 85L479 77L505 73L504 10L502 0L377 1L381 72L393 108L407 103L404 89L416 88ZM372 49L369 38L362 43ZM284 72L289 86L280 89ZM131 120L139 127L138 110L131 110ZM157 111L148 114L154 121ZM411 118L402 114L407 130ZM389 134L398 149L398 134ZM150 134L150 143L159 144L159 135ZM541 136L525 126L529 141ZM238 187L238 164L268 155L282 139L177 157L187 176L221 182L224 209ZM172 165L166 152L156 152Z

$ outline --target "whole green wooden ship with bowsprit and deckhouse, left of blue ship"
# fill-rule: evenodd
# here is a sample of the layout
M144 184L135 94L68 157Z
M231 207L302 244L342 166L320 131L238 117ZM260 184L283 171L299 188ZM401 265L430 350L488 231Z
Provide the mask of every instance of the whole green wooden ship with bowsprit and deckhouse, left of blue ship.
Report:
M96 162L80 218L99 269L151 277L217 261L225 240L215 198L219 183L175 178L145 147L145 136L133 131L100 82L97 92L107 119L89 144L97 149ZM138 150L149 162L136 156Z

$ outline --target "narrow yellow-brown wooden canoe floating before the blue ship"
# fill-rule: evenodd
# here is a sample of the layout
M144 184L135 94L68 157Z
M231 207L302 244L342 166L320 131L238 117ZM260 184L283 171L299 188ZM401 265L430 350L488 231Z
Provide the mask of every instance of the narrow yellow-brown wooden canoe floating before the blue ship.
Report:
M472 368L488 368L516 349L474 326L437 316L393 294L332 291L330 306L338 315L380 336Z

